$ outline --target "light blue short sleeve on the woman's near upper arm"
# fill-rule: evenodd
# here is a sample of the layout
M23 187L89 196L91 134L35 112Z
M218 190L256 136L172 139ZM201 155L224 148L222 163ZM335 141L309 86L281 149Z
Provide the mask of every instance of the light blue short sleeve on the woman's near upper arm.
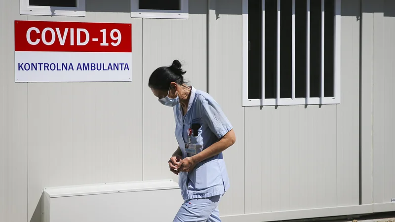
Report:
M232 124L229 122L218 103L203 99L201 105L203 121L205 121L218 139L222 138L233 129Z

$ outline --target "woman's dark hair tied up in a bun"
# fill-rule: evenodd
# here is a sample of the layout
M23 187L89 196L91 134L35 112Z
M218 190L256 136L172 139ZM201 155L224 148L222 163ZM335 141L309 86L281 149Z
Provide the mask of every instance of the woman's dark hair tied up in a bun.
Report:
M167 91L170 86L170 82L175 82L179 85L185 83L184 76L186 71L181 69L181 63L178 60L174 60L171 66L162 66L156 69L148 80L148 86L150 88Z

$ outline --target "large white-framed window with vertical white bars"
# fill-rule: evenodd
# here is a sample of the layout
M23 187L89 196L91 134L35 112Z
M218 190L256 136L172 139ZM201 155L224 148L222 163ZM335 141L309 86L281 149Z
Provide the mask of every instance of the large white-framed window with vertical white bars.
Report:
M340 103L340 0L243 0L242 104Z

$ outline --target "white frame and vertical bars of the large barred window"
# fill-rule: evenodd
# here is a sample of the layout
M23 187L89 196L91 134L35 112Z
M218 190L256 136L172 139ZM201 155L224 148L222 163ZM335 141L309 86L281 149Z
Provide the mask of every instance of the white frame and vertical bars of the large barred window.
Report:
M324 97L324 0L321 0L321 92L320 97L310 97L310 1L307 0L307 83L306 98L295 98L295 0L292 7L292 98L280 98L280 23L277 23L277 76L276 99L265 98L265 0L262 0L262 99L248 99L248 0L242 0L242 106L321 105L340 104L340 24L341 0L335 0L334 22L334 97ZM280 0L277 0L277 19L280 20Z

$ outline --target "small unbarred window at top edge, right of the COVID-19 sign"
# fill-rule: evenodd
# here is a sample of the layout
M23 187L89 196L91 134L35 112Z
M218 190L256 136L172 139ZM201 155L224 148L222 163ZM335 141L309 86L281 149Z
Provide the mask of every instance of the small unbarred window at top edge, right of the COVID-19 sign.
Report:
M132 18L188 19L188 0L131 0Z

